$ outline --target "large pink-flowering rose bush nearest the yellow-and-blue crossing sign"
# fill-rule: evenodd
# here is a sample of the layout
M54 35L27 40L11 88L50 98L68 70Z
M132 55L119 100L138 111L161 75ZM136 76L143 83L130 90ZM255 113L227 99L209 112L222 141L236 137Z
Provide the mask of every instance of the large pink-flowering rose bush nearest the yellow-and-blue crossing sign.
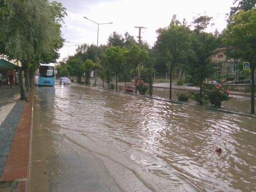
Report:
M220 107L223 101L230 99L230 91L223 86L223 82L215 85L206 83L202 85L202 88L205 100L210 102L212 106Z

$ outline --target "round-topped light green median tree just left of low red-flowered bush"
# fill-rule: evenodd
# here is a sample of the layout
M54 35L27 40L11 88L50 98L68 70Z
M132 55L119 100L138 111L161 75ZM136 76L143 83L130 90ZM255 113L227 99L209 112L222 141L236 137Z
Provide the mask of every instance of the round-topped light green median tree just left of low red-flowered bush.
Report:
M121 72L124 65L126 52L127 50L125 47L120 48L119 46L111 46L106 49L106 62L116 74L116 90L118 73Z

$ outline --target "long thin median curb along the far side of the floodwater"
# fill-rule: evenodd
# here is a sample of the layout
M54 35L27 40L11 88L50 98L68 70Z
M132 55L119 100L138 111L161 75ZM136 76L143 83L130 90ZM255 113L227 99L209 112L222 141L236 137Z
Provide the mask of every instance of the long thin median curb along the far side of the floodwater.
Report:
M191 104L191 103L186 103L186 102L181 102L181 101L176 101L176 100L162 99L162 98L150 97L150 96L146 96L146 95L138 95L138 94L134 94L134 93L130 93L130 92L122 92L120 90L111 90L111 89L105 89L105 88L101 88L101 87L93 87L93 88L112 91L112 92L118 92L118 93L123 93L123 94L129 94L129 95L133 95L133 96L142 96L144 98L150 98L150 99L154 99L154 100L160 100L160 101L165 101L165 102L170 102L170 103L175 103L175 104L183 104L183 105L188 105L188 106L204 107L208 110L214 110L214 111L218 111L218 112L224 112L224 113L229 113L229 114L238 114L238 115L243 115L243 116L247 116L247 117L256 118L256 115L254 115L254 114L249 114L249 113L244 113L244 112L235 112L235 111L224 110L224 109L218 109L218 108L214 108L212 106L199 106L199 105L196 105L196 104Z

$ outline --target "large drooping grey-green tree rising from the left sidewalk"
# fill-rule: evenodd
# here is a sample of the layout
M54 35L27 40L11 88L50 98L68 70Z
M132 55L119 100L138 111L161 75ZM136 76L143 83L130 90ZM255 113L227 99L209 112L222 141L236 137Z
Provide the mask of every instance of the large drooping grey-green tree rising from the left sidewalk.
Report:
M66 12L62 4L47 0L13 1L12 10L15 14L0 18L0 53L21 61L20 99L24 100L22 70L28 85L29 76L33 80L40 62L58 58L58 49L64 41L61 22Z

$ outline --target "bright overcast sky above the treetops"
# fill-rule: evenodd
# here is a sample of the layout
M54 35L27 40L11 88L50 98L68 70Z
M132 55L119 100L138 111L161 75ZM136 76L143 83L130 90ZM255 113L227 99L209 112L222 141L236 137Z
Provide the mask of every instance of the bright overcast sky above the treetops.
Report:
M215 25L208 28L208 32L214 32L217 28L222 31L226 27L226 13L234 0L57 0L67 9L65 24L62 34L66 41L75 43L97 44L97 23L113 24L100 25L98 44L106 44L108 36L116 31L122 34L127 31L135 38L138 29L134 26L144 26L142 40L146 40L151 46L156 41L156 30L170 24L173 14L182 21L186 18L188 23L193 21L197 14L214 17ZM138 40L138 38L136 38ZM75 45L65 43L65 45ZM68 56L68 47L60 50L60 59ZM69 47L69 55L74 55L76 46Z

